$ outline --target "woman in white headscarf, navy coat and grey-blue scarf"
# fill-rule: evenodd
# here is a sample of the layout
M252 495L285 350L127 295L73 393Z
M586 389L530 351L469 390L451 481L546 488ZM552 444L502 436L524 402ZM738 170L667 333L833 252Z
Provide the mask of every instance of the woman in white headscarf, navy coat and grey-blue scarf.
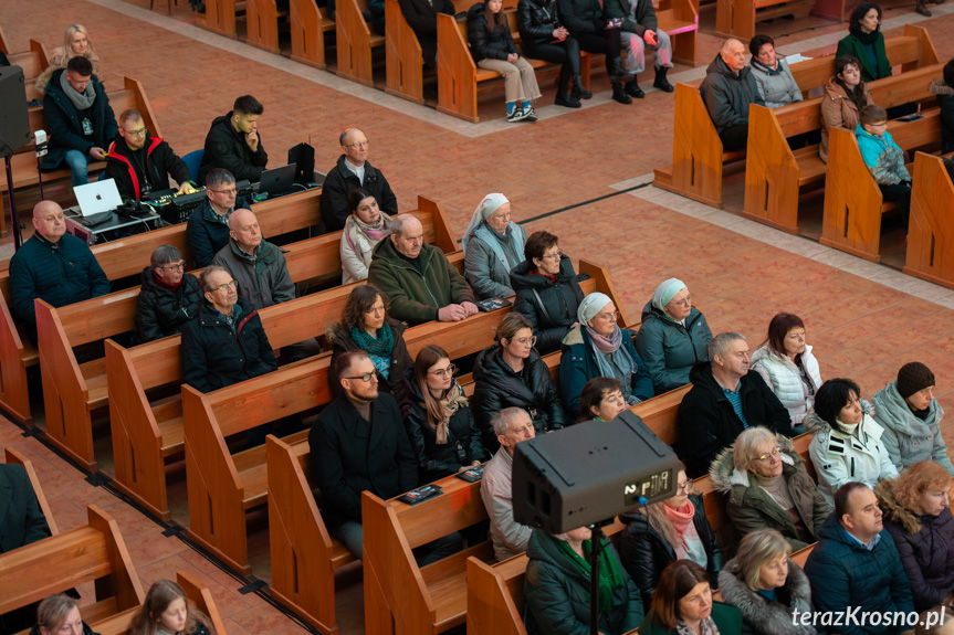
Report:
M595 377L619 380L627 405L653 396L649 371L632 346L632 331L619 328L619 311L609 296L589 294L577 309L579 325L563 338L559 388L568 413L579 409L579 394Z

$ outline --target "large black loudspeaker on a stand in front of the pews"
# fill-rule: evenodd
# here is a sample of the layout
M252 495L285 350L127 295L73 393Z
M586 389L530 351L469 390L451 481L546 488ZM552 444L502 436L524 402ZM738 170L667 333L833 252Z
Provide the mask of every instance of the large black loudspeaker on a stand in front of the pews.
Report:
M514 520L563 533L669 498L678 476L672 448L625 411L518 443Z

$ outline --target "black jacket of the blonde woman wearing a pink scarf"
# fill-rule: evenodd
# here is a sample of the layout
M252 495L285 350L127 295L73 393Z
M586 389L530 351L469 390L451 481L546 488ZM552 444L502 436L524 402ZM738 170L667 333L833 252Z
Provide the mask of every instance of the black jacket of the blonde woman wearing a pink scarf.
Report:
M702 496L693 494L689 500L695 508L692 525L705 548L705 570L709 573L710 583L715 589L725 555L715 531L712 530L705 517ZM652 594L659 584L662 570L677 561L675 549L649 525L649 519L641 510L620 515L619 519L626 523L626 529L619 535L619 555L622 559L622 565L639 586L643 604L648 606L652 602Z

